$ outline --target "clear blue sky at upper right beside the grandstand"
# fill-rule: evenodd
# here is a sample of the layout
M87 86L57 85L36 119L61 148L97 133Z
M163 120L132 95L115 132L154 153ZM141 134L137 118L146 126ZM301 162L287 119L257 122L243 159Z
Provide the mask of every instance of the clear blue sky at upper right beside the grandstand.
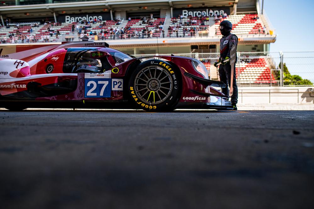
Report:
M314 0L264 0L264 10L278 34L271 52L314 51L313 8Z

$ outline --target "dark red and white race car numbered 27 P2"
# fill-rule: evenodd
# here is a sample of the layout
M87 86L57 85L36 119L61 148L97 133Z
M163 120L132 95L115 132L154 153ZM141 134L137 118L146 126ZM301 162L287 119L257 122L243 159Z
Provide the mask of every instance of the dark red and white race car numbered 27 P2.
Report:
M144 61L143 59L152 58ZM157 59L156 59L157 58ZM135 58L106 42L74 41L0 59L0 107L232 109L200 61L178 56Z

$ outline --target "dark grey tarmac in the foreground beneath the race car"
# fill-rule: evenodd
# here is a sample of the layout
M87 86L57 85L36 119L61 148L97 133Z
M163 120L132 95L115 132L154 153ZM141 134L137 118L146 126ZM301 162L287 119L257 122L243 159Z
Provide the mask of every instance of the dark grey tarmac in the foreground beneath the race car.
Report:
M0 111L0 208L314 208L314 111Z

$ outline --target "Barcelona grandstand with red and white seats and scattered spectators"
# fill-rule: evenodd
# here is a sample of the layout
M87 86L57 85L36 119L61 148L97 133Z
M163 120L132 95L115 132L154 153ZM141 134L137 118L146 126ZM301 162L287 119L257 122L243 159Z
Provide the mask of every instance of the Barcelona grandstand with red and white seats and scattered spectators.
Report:
M78 41L87 35L129 54L215 53L221 37L218 26L225 19L239 37L240 52L267 52L277 37L257 0L9 2L0 7L1 44ZM202 62L218 79L214 59ZM242 84L267 85L275 82L271 72L276 67L263 56L241 60L237 76Z

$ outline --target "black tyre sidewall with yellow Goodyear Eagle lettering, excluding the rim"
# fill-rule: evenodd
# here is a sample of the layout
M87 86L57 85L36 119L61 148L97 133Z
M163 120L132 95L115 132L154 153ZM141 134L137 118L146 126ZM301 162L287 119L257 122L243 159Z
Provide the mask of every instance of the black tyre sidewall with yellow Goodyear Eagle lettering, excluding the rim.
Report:
M153 104L146 101L141 100L135 90L134 82L136 75L140 72L140 70L148 67L148 66L156 66L164 69L171 77L172 80L172 91L168 98L159 103L159 104ZM153 59L153 60L147 60L145 62L140 63L135 71L132 73L129 79L128 84L128 92L130 95L130 100L135 102L136 107L141 108L146 111L171 111L173 110L174 106L177 104L179 99L179 93L181 89L181 81L180 81L180 72L177 72L176 68L169 64L168 62L165 62L163 60Z

